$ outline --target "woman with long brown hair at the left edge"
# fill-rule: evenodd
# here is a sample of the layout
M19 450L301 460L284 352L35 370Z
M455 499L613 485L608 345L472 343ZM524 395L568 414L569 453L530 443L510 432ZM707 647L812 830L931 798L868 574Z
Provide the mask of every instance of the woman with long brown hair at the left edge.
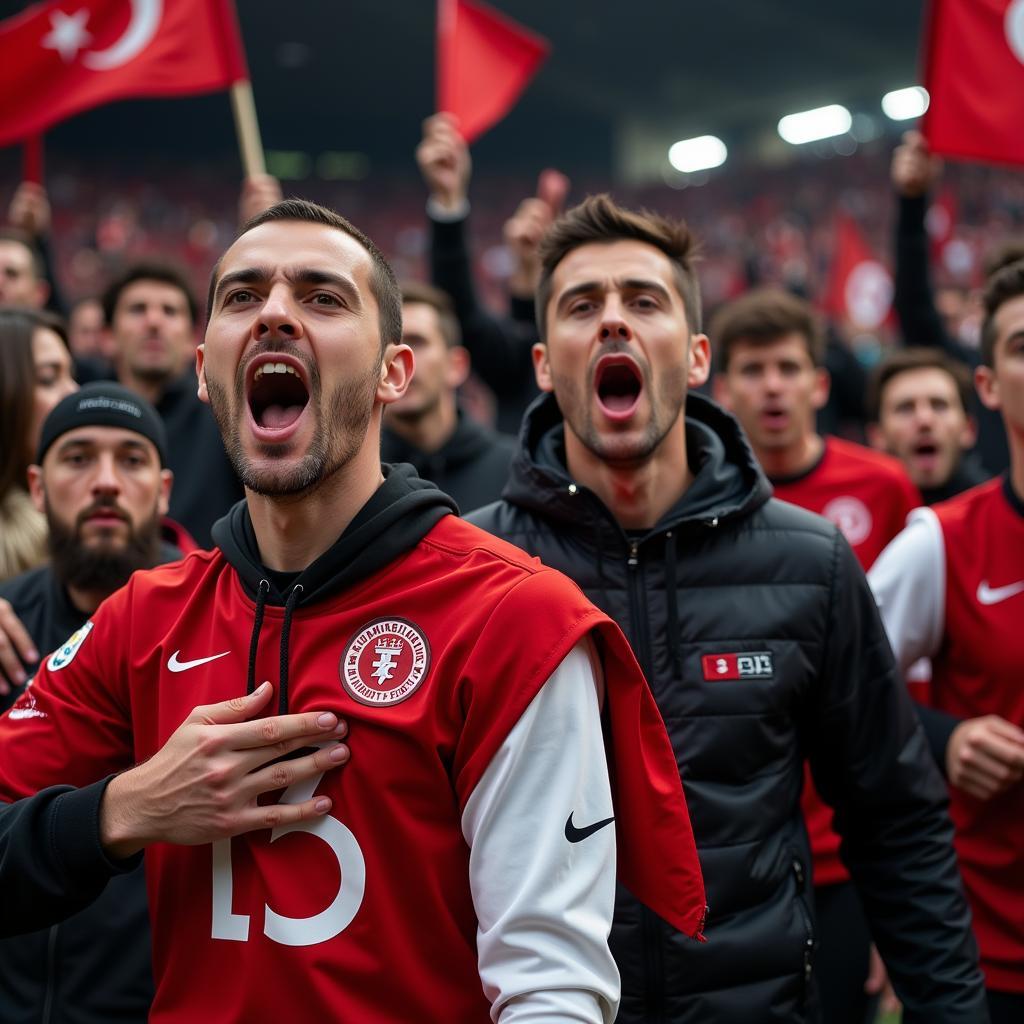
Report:
M29 498L28 469L43 420L77 387L60 322L0 309L0 581L46 557L46 521Z

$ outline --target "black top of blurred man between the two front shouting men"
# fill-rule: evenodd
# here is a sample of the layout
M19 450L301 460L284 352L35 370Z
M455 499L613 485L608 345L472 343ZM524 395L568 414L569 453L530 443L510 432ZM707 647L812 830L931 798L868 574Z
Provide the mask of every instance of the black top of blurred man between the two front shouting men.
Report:
M455 432L436 452L414 447L386 423L381 437L382 462L408 462L464 512L501 498L516 450L514 437L482 426L461 410Z

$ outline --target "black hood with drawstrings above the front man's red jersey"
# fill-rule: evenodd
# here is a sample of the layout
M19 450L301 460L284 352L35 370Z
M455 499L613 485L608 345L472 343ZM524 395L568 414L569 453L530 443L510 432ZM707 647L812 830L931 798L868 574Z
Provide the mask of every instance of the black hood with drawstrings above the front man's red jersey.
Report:
M341 537L288 585L274 585L259 557L249 506L239 502L213 525L213 540L239 573L246 593L256 602L249 645L247 692L256 688L256 655L267 604L284 605L281 631L278 714L288 714L288 648L292 615L297 607L323 601L347 590L414 548L437 521L457 512L455 502L432 483L421 480L412 466L382 466L384 482L356 513Z

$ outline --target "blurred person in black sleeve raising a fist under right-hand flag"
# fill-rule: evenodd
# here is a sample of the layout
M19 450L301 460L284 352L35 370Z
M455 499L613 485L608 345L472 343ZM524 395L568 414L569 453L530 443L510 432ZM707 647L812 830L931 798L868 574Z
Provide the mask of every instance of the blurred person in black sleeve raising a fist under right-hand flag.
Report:
M941 173L942 162L930 153L924 136L906 132L893 152L891 169L898 197L893 308L905 344L941 348L973 370L980 361L977 347L965 344L950 331L967 310L956 294L946 293L943 317L932 287L925 218L929 194ZM989 473L1001 473L1010 461L1002 422L987 409L978 416L978 456Z

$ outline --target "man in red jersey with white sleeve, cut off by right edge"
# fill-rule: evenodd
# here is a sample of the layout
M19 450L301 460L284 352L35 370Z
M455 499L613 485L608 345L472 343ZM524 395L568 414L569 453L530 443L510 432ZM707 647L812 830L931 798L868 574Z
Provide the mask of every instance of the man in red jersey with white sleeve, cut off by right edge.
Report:
M1024 1020L1024 262L985 289L978 396L1002 414L1009 475L913 513L870 572L900 665L932 659L932 750L993 1024Z

